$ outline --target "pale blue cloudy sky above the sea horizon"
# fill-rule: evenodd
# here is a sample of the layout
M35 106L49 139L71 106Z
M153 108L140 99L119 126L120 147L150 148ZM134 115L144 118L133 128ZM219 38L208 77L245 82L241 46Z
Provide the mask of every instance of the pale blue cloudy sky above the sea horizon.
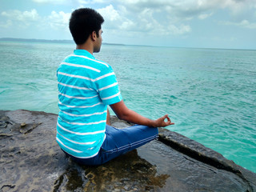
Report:
M72 11L102 14L125 45L256 50L256 0L0 0L0 38L72 40Z

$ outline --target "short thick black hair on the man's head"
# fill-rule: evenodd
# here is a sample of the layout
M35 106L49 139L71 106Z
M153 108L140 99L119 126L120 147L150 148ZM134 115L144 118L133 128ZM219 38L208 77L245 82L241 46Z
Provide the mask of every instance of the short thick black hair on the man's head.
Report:
M104 18L96 10L81 8L74 10L70 17L70 33L77 45L82 45L89 38L90 34L102 28Z

